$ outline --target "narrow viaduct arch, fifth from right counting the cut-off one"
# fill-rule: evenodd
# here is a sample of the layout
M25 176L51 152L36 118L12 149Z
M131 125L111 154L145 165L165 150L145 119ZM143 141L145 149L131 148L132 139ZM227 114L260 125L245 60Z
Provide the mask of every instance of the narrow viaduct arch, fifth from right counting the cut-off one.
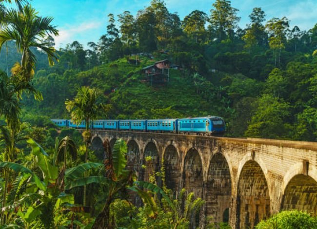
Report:
M181 174L180 157L177 148L172 144L168 145L163 151L162 158L164 158L166 186L177 195Z

